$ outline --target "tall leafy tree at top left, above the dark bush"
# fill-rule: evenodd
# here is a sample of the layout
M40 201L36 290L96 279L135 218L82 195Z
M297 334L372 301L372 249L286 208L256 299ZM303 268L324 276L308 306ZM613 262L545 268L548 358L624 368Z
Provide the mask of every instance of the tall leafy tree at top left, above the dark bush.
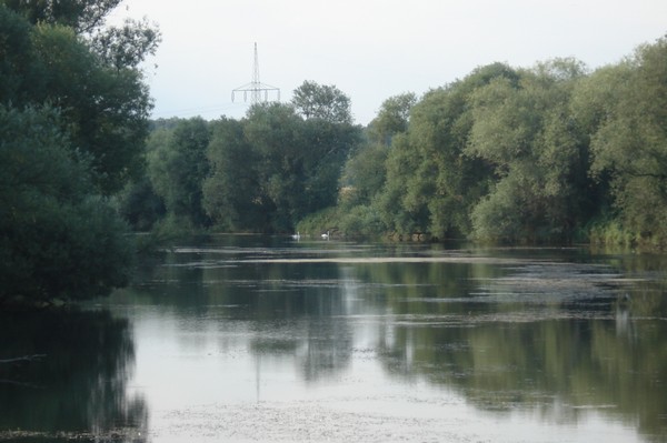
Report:
M112 6L102 0L0 6L0 42L7 42L0 43L7 54L0 64L0 102L60 108L63 130L91 155L94 184L106 194L141 170L152 103L137 66L159 42L159 32L141 23L127 23L116 34L109 29L116 38L103 39L107 30L97 31L97 39L83 38L82 29L99 27Z

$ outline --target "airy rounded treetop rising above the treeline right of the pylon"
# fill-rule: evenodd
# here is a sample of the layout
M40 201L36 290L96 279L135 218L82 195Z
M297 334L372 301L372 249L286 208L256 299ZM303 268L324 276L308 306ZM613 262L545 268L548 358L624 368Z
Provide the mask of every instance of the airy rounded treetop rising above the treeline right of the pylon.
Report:
M291 103L297 113L307 120L352 123L350 99L335 85L305 81L295 90Z

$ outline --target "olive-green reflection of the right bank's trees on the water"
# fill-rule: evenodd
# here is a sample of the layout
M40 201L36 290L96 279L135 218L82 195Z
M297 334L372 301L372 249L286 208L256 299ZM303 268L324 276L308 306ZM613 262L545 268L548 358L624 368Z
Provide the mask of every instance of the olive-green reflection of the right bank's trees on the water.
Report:
M387 373L455 387L486 410L528 407L557 421L595 410L663 441L663 283L644 281L618 290L597 280L583 285L585 278L576 273L575 281L557 284L542 278L530 288L522 280L518 289L508 286L511 279L478 275L475 281L484 291L468 290L485 296L477 301L481 306L472 306L466 296L448 302L446 286L437 303L424 296L428 290L419 295L410 293L414 288L400 291L395 274L384 303L408 320L381 325L378 353ZM422 288L429 281L437 280L425 278Z

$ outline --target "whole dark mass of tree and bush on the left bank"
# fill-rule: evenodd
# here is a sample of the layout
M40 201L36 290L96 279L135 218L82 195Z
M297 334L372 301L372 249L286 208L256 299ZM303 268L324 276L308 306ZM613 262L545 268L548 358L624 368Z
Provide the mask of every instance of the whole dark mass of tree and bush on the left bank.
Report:
M0 304L128 279L131 244L108 197L141 175L151 104L137 67L159 34L104 28L117 3L0 1Z

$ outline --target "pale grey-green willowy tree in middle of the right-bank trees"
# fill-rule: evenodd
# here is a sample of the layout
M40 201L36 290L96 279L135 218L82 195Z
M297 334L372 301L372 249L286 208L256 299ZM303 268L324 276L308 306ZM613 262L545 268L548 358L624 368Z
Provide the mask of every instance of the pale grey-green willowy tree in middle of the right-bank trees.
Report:
M472 211L475 236L569 241L587 221L587 145L569 112L584 74L575 60L554 60L475 93L467 153L499 177Z

